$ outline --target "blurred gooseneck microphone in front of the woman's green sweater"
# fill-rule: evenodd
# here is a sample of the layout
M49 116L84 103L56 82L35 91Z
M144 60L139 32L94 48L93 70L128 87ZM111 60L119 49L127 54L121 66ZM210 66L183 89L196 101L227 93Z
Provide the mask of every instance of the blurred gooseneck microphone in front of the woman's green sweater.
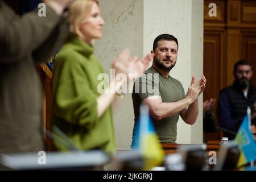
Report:
M55 142L61 144L61 146L67 148L72 152L79 152L79 148L75 146L70 138L63 133L57 126L52 127L53 131L55 131L59 136L53 134L51 131L43 128L43 133L47 135L47 137L53 139ZM65 142L64 142L65 141Z

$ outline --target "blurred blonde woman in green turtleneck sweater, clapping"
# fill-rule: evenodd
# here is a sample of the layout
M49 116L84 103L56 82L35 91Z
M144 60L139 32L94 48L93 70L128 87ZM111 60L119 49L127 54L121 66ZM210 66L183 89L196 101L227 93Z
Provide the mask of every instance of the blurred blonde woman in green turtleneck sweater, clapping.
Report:
M124 73L126 80L110 82L98 90L104 73L93 55L93 39L100 39L104 20L98 2L77 0L69 9L71 35L58 53L53 68L52 123L59 127L80 150L100 149L113 154L115 136L112 104L127 82L141 75L150 63L148 54L137 61L128 49L113 60L115 74ZM135 74L129 74L135 73ZM102 88L101 88L102 89ZM69 150L55 142L58 150Z

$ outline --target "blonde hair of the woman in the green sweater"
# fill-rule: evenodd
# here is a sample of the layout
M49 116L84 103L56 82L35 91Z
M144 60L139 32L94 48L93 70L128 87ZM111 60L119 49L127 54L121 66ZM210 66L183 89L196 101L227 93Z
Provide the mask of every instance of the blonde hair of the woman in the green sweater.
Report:
M97 0L76 0L69 8L69 31L84 38L85 35L79 30L79 24L90 15L93 3Z

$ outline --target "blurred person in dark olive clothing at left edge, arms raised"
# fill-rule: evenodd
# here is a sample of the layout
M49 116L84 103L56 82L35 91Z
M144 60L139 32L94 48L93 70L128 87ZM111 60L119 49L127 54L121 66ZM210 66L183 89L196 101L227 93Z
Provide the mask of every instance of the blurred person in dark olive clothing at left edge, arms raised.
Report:
M45 0L38 11L18 16L0 0L0 152L45 150L42 86L35 66L47 61L68 32L62 15L71 0Z

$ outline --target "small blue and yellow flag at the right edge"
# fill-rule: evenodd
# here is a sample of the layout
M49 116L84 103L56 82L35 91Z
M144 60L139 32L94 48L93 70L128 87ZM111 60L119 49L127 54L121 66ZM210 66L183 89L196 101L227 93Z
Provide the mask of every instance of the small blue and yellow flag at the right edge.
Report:
M244 164L251 162L251 160L256 159L256 144L253 135L250 132L249 123L249 118L246 115L235 138L235 141L240 148L240 157L238 159L237 167L241 167Z

